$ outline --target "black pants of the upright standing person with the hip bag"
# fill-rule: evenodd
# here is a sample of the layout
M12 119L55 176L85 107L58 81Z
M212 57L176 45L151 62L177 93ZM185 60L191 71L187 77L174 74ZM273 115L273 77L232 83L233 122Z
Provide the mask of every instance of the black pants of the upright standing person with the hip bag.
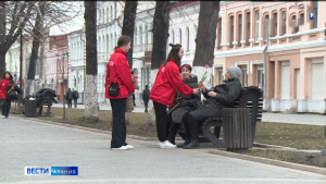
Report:
M111 148L120 148L126 145L126 100L127 98L110 99L113 116Z

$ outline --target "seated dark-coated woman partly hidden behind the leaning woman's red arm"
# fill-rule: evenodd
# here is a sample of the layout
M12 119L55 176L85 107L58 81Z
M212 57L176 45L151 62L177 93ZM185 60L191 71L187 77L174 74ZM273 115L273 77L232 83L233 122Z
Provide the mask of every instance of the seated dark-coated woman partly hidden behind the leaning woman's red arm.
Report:
M184 83L190 88L198 87L198 77L191 74L191 65L181 65ZM200 101L200 94L181 95L176 93L174 106L168 110L170 133L168 142L175 145L175 135L178 126L183 123L184 115L191 111L193 105ZM189 136L190 137L190 136Z

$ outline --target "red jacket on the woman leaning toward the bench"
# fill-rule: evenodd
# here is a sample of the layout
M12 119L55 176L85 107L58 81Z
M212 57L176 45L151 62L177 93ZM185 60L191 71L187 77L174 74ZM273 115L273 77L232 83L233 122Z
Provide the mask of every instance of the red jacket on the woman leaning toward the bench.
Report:
M149 98L164 106L173 106L175 90L183 95L191 95L193 89L188 87L179 74L179 68L173 61L159 69Z

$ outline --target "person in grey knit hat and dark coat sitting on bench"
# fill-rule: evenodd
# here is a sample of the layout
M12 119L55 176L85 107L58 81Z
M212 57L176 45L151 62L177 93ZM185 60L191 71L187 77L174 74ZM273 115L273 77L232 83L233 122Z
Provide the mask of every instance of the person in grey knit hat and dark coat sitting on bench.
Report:
M178 148L192 149L198 148L199 126L208 118L222 116L223 108L231 108L241 93L239 77L241 70L238 66L229 66L224 74L225 84L216 85L214 90L208 90L202 82L199 87L206 98L204 105L187 114L185 121L186 140L178 144Z

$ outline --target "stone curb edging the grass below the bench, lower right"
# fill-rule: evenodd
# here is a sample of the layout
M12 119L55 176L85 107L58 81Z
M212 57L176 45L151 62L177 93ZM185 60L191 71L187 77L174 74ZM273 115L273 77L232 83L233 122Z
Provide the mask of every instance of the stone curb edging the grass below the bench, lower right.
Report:
M231 158L238 158L238 159L243 159L243 160L249 160L249 161L255 161L255 162L261 162L261 163L265 163L265 164L274 164L274 165L278 165L278 167L297 169L297 170L301 170L301 171L309 171L309 172L314 172L314 173L318 173L318 174L326 174L326 169L311 167L311 165L304 165L304 164L299 164L299 163L291 163L291 162L266 159L266 158L261 158L261 157L246 156L246 155L241 155L241 154L235 154L235 152L228 152L228 151L222 151L222 150L209 150L209 154L226 156L226 157L231 157Z

